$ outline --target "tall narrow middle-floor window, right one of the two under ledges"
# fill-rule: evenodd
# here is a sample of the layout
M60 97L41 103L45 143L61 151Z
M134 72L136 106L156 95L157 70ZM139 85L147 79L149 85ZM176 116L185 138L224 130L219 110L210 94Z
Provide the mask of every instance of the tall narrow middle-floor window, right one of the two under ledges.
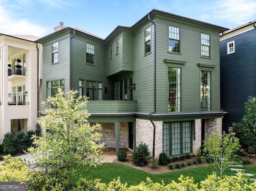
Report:
M201 91L200 102L201 111L211 110L211 72L201 70Z

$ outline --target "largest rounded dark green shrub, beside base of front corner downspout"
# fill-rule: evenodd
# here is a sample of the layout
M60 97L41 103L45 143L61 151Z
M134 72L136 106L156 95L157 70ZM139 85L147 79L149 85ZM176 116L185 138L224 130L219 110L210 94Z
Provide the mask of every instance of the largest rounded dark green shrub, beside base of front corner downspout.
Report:
M136 147L135 150L132 152L131 161L137 166L143 166L148 162L149 159L150 152L148 150L148 145L146 143L142 144L141 142L139 146Z

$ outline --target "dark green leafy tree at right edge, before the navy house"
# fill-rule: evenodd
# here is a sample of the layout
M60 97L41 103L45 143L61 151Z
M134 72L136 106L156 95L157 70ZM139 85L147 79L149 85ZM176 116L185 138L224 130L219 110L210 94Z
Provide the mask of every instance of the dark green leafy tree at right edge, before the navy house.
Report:
M244 109L245 114L241 122L232 124L233 132L244 148L256 147L256 97L249 96Z

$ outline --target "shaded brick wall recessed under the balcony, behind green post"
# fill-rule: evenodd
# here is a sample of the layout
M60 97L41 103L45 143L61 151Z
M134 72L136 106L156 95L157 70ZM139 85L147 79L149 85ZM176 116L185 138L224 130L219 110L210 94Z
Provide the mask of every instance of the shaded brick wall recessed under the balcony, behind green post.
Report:
M96 123L90 123L94 125ZM106 144L106 148L116 148L116 139L115 139L115 123L100 123L102 130L102 137L100 138L99 143ZM128 122L120 123L120 148L128 148Z

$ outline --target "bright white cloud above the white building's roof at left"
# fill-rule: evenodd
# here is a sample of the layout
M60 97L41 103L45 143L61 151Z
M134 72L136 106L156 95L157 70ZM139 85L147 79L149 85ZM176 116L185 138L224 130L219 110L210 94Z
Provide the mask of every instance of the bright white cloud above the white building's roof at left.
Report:
M0 13L0 33L43 37L48 31L47 28L32 24L26 19L14 17L4 6L0 6Z

